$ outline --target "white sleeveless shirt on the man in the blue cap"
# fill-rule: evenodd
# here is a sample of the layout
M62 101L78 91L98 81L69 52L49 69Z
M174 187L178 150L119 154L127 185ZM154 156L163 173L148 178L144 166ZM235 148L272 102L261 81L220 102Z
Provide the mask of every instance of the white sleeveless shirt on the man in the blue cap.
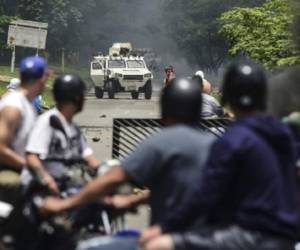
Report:
M13 138L12 149L16 153L25 156L25 147L27 144L28 135L32 130L37 114L32 106L32 103L20 91L15 91L5 95L0 102L0 110L4 109L5 107L15 107L21 112L22 119L16 135Z

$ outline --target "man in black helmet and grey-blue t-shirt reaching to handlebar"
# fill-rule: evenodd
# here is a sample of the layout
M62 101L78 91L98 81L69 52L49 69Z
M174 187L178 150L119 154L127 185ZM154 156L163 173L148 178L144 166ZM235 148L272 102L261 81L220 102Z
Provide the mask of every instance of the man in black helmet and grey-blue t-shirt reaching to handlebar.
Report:
M48 212L60 212L98 199L130 181L151 191L151 224L180 204L206 160L214 137L197 129L201 89L194 81L177 79L163 89L160 106L166 127L145 140L135 152L80 193L63 200L49 198ZM144 195L142 195L142 199Z

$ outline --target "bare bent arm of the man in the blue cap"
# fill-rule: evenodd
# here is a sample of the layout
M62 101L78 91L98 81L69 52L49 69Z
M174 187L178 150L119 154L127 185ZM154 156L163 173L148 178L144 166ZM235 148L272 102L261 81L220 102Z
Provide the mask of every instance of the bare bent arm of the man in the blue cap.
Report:
M15 107L5 107L0 114L0 162L16 170L26 164L25 158L10 148L21 118L21 112Z

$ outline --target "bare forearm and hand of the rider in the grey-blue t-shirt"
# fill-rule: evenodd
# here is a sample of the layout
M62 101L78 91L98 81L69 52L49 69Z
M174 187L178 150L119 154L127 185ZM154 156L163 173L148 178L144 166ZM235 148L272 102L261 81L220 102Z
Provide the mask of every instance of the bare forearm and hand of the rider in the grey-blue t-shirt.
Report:
M48 198L43 204L42 211L45 213L58 213L76 206L80 206L111 192L120 184L126 182L128 176L125 171L119 167L113 167L102 176L98 176L88 183L82 191L69 198L60 200Z

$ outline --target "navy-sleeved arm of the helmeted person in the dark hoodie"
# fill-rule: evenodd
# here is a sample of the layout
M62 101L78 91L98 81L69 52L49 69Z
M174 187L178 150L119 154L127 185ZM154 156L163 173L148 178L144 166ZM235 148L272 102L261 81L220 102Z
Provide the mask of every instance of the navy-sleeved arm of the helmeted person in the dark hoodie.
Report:
M208 162L193 192L181 206L170 211L161 223L162 231L182 230L198 216L209 214L227 191L234 169L234 150L221 138L212 146Z

